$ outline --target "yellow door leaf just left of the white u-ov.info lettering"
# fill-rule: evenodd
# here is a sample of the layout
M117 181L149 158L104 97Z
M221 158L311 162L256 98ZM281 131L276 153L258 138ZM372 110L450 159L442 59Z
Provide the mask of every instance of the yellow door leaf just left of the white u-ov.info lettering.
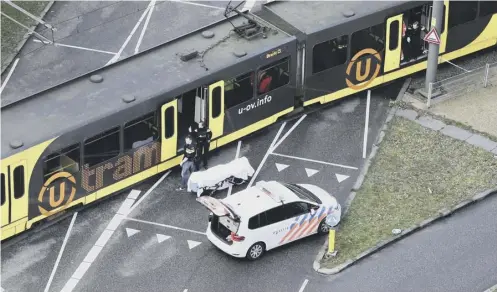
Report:
M209 85L209 122L212 131L212 140L223 135L224 131L224 80ZM210 149L214 149L217 142L211 142Z

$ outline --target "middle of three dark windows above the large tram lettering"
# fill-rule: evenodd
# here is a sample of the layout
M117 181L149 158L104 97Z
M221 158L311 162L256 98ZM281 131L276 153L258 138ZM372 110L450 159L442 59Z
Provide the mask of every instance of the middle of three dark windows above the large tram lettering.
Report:
M91 137L85 141L85 164L91 167L118 156L120 153L119 144L119 127Z

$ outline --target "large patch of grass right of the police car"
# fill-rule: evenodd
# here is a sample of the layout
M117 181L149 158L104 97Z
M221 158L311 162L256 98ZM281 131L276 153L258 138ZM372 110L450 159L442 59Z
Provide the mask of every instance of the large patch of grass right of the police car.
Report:
M392 229L406 229L497 185L497 159L481 148L394 117L336 234L336 257L358 256Z

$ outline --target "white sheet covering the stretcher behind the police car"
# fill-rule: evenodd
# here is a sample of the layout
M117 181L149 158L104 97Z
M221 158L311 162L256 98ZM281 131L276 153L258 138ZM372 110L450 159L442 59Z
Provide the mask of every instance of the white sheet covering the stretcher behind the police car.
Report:
M230 176L239 179L248 179L254 175L254 169L246 157L241 157L230 161L226 164L216 165L205 171L197 171L190 175L188 180L189 192L202 192L202 188L214 187L216 184L223 182ZM220 190L228 188L229 183L223 183Z

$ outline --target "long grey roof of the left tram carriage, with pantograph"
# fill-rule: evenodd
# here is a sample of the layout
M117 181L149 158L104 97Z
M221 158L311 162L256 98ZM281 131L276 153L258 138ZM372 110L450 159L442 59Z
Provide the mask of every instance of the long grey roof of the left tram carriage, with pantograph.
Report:
M246 22L241 16L232 17L230 20L234 25ZM228 20L216 22L17 103L3 106L1 109L2 158L136 106L140 102L167 94L178 87L208 78L216 71L263 53L264 50L284 44L293 38L273 25L266 22L264 25L279 33L269 33L267 38L246 40L232 32L232 37L205 54L204 64L209 68L208 71L200 66L198 59L183 62L178 54L192 49L203 51L226 37L233 29L233 25ZM202 32L207 29L215 33L214 37L202 36ZM237 50L243 50L247 55L238 58L233 54ZM90 76L93 74L101 75L103 81L91 82ZM122 98L130 95L136 100L129 104L123 102ZM174 96L170 97L172 98ZM12 149L10 142L14 140L22 141L24 145Z

